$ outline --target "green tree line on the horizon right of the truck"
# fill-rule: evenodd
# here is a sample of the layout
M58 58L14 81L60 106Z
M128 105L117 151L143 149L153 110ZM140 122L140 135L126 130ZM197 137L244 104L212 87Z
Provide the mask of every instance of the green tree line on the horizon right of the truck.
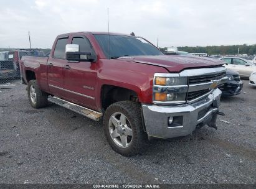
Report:
M196 46L196 47L178 47L178 50L185 52L201 52L207 53L208 55L237 55L237 50L239 48L239 54L255 55L256 54L256 44L255 45L221 45L221 46ZM167 50L167 47L160 48L160 50Z

